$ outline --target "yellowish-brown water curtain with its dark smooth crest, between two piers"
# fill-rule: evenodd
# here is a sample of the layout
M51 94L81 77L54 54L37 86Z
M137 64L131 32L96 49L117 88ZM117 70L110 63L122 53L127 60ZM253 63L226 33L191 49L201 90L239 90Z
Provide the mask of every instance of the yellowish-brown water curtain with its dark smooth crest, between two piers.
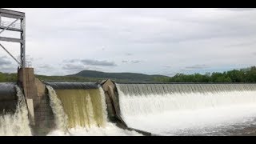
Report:
M54 86L53 88L50 86ZM50 91L51 106L55 109L58 102L67 115L67 126L90 127L105 126L106 124L106 103L102 89L94 83L51 83L47 86ZM57 98L51 98L57 96ZM57 111L57 110L55 110ZM57 113L55 113L57 114ZM63 116L62 116L63 118ZM65 119L65 118L64 118Z

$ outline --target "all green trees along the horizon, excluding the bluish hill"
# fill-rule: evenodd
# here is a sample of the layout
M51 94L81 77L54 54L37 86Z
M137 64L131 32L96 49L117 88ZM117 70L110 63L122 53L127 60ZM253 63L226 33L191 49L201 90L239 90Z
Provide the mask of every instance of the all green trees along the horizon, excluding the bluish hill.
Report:
M85 78L72 76L36 75L44 81L101 81L104 78ZM17 74L0 72L0 82L17 82ZM105 78L106 79L106 78ZM113 79L118 81L118 79ZM223 73L206 74L175 74L174 77L154 77L154 82L256 82L256 66L240 70L230 70Z

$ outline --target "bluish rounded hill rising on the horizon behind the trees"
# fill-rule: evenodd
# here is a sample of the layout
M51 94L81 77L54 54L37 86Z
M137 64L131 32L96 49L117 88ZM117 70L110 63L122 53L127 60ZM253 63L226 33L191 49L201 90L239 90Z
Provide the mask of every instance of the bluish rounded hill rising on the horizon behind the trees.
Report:
M96 70L82 70L78 74L66 75L68 77L84 77L84 78L110 78L119 81L145 82L154 81L155 78L169 78L164 75L148 75L138 73L105 73Z

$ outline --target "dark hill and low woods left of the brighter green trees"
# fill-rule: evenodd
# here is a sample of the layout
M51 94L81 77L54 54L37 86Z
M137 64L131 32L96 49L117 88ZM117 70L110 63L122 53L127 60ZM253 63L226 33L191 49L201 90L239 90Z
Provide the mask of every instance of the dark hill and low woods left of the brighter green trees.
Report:
M42 81L56 81L56 82L102 82L110 78L114 82L158 82L159 79L166 79L169 77L163 75L148 75L137 73L104 73L94 70L83 70L78 74L71 74L66 76L35 76ZM17 82L17 74L8 74L0 72L0 82Z

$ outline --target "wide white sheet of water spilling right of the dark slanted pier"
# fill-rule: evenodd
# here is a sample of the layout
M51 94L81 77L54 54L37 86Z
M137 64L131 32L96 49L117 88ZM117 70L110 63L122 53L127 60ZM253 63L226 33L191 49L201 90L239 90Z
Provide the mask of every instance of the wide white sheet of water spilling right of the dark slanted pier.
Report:
M256 130L254 84L117 84L128 126L162 135Z

